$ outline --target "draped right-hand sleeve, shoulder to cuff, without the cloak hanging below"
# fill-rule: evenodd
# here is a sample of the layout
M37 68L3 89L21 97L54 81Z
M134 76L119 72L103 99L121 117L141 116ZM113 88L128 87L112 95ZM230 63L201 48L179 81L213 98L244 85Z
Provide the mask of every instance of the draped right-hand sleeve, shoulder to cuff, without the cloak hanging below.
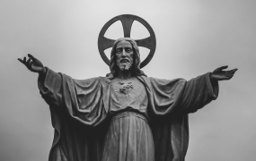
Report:
M210 72L191 80L163 80L140 77L145 82L149 107L155 115L189 114L206 106L218 95L217 81L211 82Z

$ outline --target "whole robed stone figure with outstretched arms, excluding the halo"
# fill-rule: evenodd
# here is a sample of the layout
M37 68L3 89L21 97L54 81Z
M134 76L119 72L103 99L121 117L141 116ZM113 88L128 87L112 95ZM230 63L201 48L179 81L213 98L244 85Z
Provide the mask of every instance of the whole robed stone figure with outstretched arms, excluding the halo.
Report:
M182 161L189 145L188 114L218 95L218 81L237 69L216 68L191 80L147 77L137 42L119 38L106 77L75 80L28 55L55 129L49 161Z

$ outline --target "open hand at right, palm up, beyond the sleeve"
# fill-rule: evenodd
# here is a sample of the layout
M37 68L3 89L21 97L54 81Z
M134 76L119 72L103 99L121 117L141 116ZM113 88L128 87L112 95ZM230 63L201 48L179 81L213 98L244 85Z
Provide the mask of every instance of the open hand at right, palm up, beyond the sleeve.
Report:
M230 71L223 71L226 69L228 66L221 66L214 70L214 72L211 73L210 79L211 80L230 80L234 76L234 72L236 72L238 69L235 68Z

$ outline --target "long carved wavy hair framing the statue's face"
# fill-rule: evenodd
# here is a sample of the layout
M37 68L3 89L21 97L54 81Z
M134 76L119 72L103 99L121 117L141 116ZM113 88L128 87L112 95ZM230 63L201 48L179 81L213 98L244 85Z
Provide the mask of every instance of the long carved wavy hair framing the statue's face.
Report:
M118 72L118 66L117 66L117 61L116 61L116 47L119 44L120 41L128 41L129 43L131 43L132 48L133 48L133 53L134 53L134 63L132 64L131 70L133 70L134 74L136 76L140 76L140 75L144 75L146 76L146 74L140 70L140 55L139 55L139 51L138 51L138 47L137 47L137 43L134 39L132 38L119 38L117 39L112 47L111 50L111 55L110 55L110 73L107 74L107 77L112 80L114 77L117 76L117 72Z

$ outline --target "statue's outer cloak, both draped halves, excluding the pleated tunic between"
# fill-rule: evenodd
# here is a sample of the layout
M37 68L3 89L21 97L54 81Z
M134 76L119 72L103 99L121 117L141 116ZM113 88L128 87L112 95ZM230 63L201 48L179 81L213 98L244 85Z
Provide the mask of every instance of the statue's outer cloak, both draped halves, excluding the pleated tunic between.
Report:
M137 76L137 80L146 89L154 160L183 161L189 145L188 114L216 99L217 81L210 81L209 72L188 81L145 76ZM110 84L105 77L75 80L50 69L45 80L39 80L55 129L49 161L102 161L113 116Z

